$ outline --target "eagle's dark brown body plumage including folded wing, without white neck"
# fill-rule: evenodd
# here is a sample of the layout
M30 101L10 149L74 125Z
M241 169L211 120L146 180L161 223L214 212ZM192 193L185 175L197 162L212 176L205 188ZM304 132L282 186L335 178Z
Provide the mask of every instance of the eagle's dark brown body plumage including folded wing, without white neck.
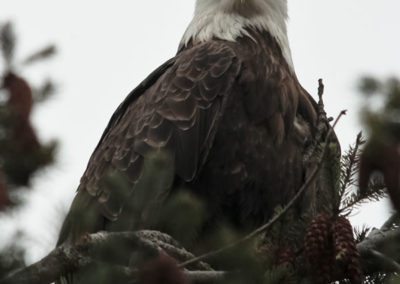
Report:
M118 219L126 200L116 200L100 179L117 170L134 191L144 159L154 151L170 153L176 178L206 199L235 190L257 196L249 190L265 187L266 196L259 200L276 206L290 195L289 187L298 186L301 174L283 175L301 172L300 144L310 137L299 143L295 126L311 127L313 121L304 121L315 111L276 41L266 32L251 35L238 43L189 44L119 107L79 188L97 199L107 219ZM276 200L269 197L273 190L287 194Z

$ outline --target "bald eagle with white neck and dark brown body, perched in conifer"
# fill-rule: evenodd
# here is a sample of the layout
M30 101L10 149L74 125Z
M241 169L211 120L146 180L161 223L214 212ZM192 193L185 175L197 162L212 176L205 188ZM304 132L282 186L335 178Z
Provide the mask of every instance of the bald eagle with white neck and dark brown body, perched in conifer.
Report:
M304 182L303 154L317 115L295 74L286 20L286 0L197 0L175 57L112 116L59 244L129 218L124 203L135 198L154 151L172 156L169 192L184 187L199 196L209 224L254 228L288 202ZM110 170L128 177L129 198L102 186ZM77 209L91 221L73 214Z

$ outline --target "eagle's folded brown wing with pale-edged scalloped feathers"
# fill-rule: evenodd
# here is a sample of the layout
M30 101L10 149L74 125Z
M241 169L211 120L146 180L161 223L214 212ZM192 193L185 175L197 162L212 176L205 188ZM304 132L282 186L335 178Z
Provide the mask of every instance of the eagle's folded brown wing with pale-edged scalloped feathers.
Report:
M183 51L163 65L113 115L76 198L81 198L81 191L88 193L106 218L117 219L120 206L112 190L101 187L100 179L117 170L134 184L144 157L154 150L167 150L174 157L176 175L193 180L211 147L239 69L235 53L222 41Z

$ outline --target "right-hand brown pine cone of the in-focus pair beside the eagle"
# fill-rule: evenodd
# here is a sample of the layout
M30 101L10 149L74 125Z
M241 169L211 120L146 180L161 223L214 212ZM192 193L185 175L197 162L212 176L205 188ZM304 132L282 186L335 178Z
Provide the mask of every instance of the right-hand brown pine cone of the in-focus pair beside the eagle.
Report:
M335 260L344 268L344 276L352 284L362 283L360 255L353 236L353 227L349 220L339 217L333 224Z

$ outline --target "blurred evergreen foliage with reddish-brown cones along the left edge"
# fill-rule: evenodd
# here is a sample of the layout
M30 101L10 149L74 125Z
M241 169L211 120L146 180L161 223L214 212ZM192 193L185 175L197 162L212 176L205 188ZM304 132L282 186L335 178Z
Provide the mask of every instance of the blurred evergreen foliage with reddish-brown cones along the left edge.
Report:
M56 141L41 142L30 119L36 103L44 102L54 93L54 84L47 80L41 87L34 88L20 75L22 67L50 57L55 48L34 52L22 64L15 57L17 47L13 24L0 23L0 64L3 63L0 68L1 214L12 212L21 204L15 193L30 189L34 175L55 161L57 146ZM15 243L0 252L0 278L25 265L25 252L18 246L21 238L17 233Z

